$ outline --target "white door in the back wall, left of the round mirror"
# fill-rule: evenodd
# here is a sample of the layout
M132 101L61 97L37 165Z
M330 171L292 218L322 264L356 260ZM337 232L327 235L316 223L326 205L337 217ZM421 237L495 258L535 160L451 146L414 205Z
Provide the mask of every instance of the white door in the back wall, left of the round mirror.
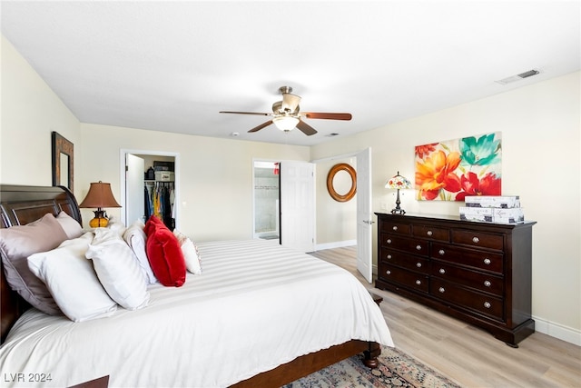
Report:
M315 250L315 164L281 162L281 244Z

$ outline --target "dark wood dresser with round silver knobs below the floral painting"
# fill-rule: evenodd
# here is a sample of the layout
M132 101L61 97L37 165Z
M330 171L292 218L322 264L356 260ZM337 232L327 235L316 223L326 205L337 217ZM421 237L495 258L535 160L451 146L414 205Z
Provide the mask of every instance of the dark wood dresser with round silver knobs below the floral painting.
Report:
M517 347L531 319L532 226L376 213L381 290L472 323Z

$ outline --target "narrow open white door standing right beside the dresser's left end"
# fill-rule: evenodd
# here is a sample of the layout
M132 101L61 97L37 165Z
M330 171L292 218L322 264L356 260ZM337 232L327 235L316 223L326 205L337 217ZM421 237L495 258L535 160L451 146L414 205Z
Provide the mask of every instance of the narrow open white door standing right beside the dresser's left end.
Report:
M373 281L371 214L371 148L357 154L357 269Z

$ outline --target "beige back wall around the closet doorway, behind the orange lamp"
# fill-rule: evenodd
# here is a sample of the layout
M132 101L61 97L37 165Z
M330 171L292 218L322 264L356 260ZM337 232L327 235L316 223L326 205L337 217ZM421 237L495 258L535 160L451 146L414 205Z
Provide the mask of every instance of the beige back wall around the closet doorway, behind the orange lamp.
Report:
M179 154L179 229L197 241L252 238L252 158L309 161L304 146L167 134L81 124L84 164L79 179L110 182L120 198L122 149ZM139 152L135 152L139 154ZM176 167L176 170L178 167ZM84 211L86 212L86 211ZM120 216L119 209L108 211ZM90 214L84 215L84 219Z

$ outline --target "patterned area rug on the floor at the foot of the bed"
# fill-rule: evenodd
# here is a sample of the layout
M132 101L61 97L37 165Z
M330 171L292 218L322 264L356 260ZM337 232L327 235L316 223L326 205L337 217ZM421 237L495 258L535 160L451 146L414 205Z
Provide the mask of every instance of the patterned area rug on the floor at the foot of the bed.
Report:
M381 347L379 367L369 369L360 357L353 356L340 363L311 373L284 388L459 388L442 375L398 349Z

